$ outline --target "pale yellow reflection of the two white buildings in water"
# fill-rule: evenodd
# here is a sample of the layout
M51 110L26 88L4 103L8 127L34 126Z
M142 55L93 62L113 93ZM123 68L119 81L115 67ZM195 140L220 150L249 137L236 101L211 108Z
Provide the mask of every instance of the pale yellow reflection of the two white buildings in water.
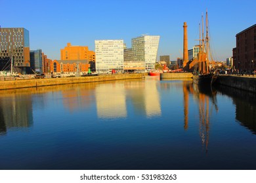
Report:
M146 114L147 117L160 116L158 80L157 77L147 77L143 81L126 80L99 84L95 90L98 117L126 118L127 105L130 104L135 114Z

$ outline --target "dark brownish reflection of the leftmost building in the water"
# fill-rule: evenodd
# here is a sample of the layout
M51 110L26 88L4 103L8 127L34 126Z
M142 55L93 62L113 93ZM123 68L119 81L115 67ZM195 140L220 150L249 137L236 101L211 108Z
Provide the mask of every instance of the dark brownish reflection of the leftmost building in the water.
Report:
M30 127L33 124L31 95L1 92L0 121L2 135L7 129Z

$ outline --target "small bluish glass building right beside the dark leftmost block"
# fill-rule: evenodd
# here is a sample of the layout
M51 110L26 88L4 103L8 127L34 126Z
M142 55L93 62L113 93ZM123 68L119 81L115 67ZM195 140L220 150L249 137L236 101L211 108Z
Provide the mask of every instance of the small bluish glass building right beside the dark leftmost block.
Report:
M30 67L36 73L43 73L43 56L41 49L30 51Z

